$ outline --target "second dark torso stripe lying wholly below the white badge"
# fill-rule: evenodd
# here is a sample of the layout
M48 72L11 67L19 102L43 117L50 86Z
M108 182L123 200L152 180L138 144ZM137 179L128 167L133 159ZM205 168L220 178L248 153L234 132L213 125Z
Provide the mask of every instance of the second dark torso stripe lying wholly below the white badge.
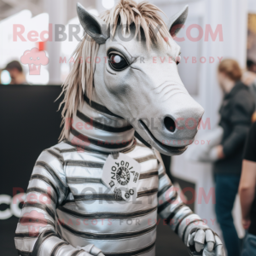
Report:
M79 230L73 230L73 228L71 228L69 225L64 223L61 223L61 226L65 230L71 232L74 236L79 236L84 239L96 239L96 240L116 240L116 239L133 238L137 236L143 236L156 229L156 224L154 224L152 227L149 227L144 230L138 230L135 232L100 234L100 233L90 233L90 232L81 232Z

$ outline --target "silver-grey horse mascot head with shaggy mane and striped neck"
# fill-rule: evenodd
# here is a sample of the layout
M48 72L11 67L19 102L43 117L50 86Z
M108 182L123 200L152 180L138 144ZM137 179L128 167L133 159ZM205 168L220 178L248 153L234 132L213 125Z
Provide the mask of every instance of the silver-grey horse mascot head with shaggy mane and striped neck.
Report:
M120 133L114 131L125 134L121 137L125 138L123 148L131 145L137 131L160 153L182 154L193 143L204 112L189 96L177 72L181 49L173 38L187 18L188 7L167 24L160 9L147 2L121 0L100 17L79 3L77 11L84 38L75 50L76 61L64 84L62 115L66 125L61 138L72 141L76 137L99 149L93 131L83 130L86 127L78 131L67 123L73 123L70 119L77 116L85 123L100 118L96 125L104 125L113 135L102 131L96 138L102 144L111 140L109 150L120 149L116 145ZM84 102L104 114L89 113Z

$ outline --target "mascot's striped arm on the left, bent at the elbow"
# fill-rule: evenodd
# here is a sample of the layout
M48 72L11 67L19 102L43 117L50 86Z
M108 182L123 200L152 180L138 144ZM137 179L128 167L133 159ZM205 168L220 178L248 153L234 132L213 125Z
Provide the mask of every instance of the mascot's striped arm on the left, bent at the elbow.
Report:
M15 232L15 247L19 255L103 255L96 247L92 248L93 245L89 248L75 248L61 240L57 234L56 207L66 198L67 193L62 155L54 148L44 150L34 166ZM91 253L91 250L97 253Z

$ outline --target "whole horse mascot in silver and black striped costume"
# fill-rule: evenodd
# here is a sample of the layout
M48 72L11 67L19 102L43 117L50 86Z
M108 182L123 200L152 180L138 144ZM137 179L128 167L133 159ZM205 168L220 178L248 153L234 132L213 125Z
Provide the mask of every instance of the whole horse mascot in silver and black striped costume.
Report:
M190 255L224 256L160 158L183 154L204 112L177 73L173 38L188 7L166 23L156 6L132 0L99 17L79 3L77 12L84 37L63 84L63 131L32 171L15 232L19 255L154 256L159 214Z

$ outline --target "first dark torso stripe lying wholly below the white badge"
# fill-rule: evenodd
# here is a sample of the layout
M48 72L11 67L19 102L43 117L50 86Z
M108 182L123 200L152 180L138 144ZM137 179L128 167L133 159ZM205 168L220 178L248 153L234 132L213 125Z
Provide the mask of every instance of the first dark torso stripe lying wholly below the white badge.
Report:
M137 212L92 212L92 213L80 213L70 210L66 207L58 207L58 210L65 212L73 217L77 218L138 218L143 217L151 212L154 212L157 207L149 208L146 210L140 210Z

